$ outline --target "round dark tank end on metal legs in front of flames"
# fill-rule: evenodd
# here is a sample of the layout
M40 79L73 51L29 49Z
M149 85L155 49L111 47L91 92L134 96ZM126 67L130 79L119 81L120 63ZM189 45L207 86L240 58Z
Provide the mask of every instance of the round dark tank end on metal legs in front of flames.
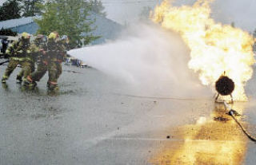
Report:
M229 77L222 75L221 77L218 78L218 81L215 83L215 88L218 92L218 96L228 96L230 95L231 97L231 102L233 103L233 96L232 92L234 91L234 81L232 81ZM215 98L215 101L217 102L218 96Z

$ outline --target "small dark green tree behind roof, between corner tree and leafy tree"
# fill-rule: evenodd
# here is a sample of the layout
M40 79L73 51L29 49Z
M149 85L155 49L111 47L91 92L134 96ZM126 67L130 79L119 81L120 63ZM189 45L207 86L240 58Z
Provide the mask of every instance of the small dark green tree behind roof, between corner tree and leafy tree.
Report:
M22 16L31 17L42 14L39 6L42 5L42 0L20 0L22 2Z

